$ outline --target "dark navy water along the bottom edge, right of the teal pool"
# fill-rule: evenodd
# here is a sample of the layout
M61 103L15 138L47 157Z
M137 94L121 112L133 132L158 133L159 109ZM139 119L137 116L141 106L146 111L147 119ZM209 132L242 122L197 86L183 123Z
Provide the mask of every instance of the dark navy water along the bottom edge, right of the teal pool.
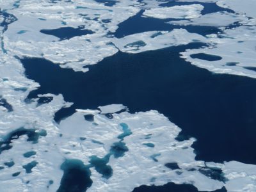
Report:
M169 182L164 186L140 186L132 192L199 192L195 186L191 184L174 184ZM227 189L222 188L215 191L200 191L200 192L227 192Z

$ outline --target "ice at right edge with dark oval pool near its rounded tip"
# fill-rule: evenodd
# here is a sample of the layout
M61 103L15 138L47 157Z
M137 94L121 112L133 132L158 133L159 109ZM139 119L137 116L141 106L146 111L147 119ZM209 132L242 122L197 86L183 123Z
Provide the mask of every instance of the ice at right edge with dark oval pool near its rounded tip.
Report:
M216 73L256 77L256 27L240 26L226 29L223 34L209 36L211 47L182 52L182 57L193 65ZM221 60L209 61L191 58L191 55L204 53L220 56Z

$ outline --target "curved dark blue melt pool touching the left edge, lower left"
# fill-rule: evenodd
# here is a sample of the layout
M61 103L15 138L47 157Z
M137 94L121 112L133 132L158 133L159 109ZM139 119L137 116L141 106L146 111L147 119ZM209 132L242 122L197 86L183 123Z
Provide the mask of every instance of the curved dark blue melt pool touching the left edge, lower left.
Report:
M0 141L0 154L3 150L12 148L12 140L17 140L22 135L27 135L27 141L31 141L35 144L38 143L40 136L46 136L47 132L44 129L25 129L24 127L16 129L15 131L10 132L7 136L4 136L3 141Z

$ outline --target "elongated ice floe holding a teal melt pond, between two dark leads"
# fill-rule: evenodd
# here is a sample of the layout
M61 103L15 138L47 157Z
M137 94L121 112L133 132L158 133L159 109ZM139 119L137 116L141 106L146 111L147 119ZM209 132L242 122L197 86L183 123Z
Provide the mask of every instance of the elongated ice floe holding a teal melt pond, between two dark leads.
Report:
M172 31L137 33L113 40L120 51L131 53L186 45L191 42L207 42L207 39L196 33L189 33L186 29L173 29Z

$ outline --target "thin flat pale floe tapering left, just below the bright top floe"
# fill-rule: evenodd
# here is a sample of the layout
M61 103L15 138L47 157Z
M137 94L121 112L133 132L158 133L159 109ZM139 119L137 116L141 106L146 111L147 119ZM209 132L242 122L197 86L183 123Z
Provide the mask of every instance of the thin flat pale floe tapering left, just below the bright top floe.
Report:
M218 19L216 19L218 18ZM238 15L236 13L228 12L216 12L202 15L201 17L190 19L190 20L172 20L168 23L175 25L192 25L192 26L215 26L225 27L234 22L240 22L247 20L244 15Z

